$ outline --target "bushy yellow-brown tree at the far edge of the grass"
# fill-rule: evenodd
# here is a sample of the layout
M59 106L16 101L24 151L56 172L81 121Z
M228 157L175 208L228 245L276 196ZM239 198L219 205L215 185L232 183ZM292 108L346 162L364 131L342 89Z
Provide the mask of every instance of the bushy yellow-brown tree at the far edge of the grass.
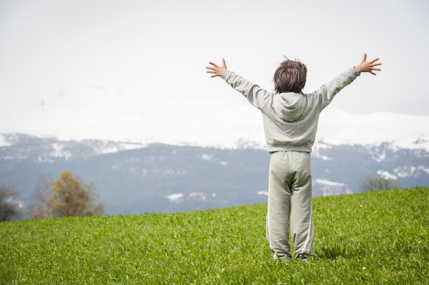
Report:
M97 194L93 184L84 185L69 171L63 171L53 181L49 197L53 216L88 216L103 214L103 204L95 204Z

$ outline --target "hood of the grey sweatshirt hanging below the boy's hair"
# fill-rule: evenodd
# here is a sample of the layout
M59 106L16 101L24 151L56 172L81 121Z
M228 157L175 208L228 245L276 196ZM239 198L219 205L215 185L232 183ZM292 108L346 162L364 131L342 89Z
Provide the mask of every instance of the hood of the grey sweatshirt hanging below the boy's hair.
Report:
M295 92L275 94L273 108L283 121L297 121L306 109L306 96Z

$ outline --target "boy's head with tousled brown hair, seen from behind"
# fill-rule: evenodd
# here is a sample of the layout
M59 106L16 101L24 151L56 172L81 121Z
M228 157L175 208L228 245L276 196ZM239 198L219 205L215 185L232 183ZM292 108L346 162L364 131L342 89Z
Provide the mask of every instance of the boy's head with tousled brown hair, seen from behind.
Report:
M302 92L306 85L307 66L295 60L284 60L274 73L275 92Z

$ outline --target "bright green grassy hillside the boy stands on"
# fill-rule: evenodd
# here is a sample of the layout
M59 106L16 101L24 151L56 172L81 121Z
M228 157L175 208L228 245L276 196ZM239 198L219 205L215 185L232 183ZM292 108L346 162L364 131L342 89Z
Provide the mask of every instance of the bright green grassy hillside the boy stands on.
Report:
M428 284L429 188L314 199L317 257L275 262L266 204L0 223L0 284Z

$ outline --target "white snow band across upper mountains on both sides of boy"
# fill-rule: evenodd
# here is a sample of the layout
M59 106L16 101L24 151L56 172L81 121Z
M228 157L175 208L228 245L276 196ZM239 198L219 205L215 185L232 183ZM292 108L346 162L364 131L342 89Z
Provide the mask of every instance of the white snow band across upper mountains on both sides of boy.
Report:
M84 97L99 101L86 106ZM260 112L244 98L223 103L141 95L106 88L64 91L25 103L25 112L0 120L0 133L56 136L62 140L101 139L140 144L168 143L222 148L265 149ZM380 145L429 150L429 116L378 112L354 115L328 106L317 142ZM6 143L0 138L0 145ZM328 158L327 158L328 159Z

